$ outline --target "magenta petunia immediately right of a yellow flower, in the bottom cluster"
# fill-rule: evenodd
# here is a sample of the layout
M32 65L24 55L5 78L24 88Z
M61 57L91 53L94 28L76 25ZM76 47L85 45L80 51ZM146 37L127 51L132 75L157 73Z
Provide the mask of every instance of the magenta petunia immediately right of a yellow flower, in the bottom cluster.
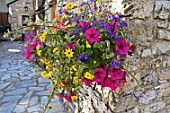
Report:
M95 77L93 80L97 83L100 83L106 77L106 70L103 68L95 68L94 75L95 75Z

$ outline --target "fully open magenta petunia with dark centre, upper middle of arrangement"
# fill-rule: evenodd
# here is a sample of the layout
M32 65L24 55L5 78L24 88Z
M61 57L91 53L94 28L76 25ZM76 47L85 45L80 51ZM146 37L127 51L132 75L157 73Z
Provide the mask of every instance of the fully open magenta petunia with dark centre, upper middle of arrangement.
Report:
M92 42L99 42L99 32L95 28L89 28L84 33L85 37L89 40L90 43Z

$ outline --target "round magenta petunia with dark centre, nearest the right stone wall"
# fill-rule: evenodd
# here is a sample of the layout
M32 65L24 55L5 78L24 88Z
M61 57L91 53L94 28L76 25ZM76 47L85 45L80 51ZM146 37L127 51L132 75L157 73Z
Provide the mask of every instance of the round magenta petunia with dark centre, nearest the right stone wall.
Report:
M119 51L120 54L123 55L129 51L130 45L129 43L126 42L125 39L121 39L121 40L116 41L115 48L117 51Z

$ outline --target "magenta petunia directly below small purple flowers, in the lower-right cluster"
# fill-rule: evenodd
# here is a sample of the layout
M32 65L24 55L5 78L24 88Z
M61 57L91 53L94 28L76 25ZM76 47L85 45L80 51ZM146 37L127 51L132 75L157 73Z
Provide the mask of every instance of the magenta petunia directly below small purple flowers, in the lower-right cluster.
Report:
M124 78L125 76L122 67L115 68L114 66L110 67L108 74L111 76L112 80L119 80L119 79Z

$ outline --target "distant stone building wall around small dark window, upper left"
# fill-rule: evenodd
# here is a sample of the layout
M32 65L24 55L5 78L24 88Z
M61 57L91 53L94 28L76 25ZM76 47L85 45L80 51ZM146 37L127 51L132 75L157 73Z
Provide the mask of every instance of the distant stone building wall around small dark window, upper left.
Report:
M22 26L22 16L32 17L34 7L33 0L18 0L9 5L10 23L12 30Z

